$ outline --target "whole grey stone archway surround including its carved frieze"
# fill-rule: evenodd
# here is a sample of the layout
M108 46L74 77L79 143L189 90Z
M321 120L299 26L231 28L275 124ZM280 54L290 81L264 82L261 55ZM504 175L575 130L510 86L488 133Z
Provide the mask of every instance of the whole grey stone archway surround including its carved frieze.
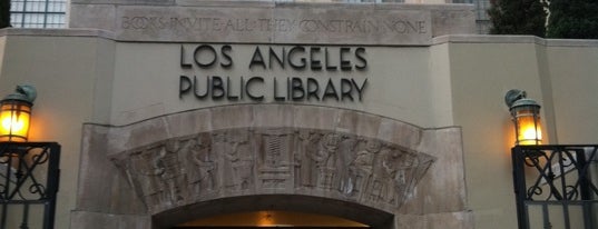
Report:
M128 223L112 228L170 227L176 220L167 219L188 218L185 209L281 197L392 216L390 226L385 217L367 222L376 227L469 223L458 128L424 130L339 108L242 104L85 130L73 225L86 228L106 215Z

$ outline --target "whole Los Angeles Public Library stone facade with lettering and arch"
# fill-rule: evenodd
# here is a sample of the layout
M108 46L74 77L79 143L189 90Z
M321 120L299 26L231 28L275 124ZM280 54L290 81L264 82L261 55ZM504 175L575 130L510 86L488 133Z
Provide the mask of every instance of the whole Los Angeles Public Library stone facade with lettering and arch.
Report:
M30 140L62 145L57 228L514 228L504 92L595 141L598 42L472 33L463 4L72 0L70 29L0 31L0 91L35 84Z

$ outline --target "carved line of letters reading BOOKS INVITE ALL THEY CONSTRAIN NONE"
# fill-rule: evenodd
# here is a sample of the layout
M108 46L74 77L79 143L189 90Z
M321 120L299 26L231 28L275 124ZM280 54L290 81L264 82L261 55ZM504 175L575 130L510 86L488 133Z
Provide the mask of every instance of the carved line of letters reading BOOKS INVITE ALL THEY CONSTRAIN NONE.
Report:
M398 34L427 33L424 20L322 20L288 18L186 18L160 16L125 16L120 19L124 30L175 30L197 32L335 32Z

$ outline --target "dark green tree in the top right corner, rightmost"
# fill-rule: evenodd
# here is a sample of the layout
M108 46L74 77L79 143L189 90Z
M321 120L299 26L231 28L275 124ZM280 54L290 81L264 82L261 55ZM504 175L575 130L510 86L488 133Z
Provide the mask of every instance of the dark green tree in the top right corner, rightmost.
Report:
M550 0L549 38L598 39L597 0Z

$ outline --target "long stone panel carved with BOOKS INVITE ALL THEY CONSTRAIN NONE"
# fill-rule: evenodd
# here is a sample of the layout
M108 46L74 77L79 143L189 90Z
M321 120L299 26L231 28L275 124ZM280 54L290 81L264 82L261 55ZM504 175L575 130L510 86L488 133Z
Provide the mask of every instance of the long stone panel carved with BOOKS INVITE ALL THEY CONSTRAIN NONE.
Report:
M124 6L116 36L134 41L429 44L430 11Z

